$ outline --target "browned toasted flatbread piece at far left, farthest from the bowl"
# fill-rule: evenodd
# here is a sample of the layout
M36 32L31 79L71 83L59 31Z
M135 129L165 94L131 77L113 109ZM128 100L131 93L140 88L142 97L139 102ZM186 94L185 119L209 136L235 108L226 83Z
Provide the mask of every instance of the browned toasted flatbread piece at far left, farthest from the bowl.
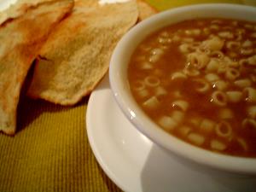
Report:
M26 6L0 26L0 131L14 134L20 90L49 32L73 8L73 0Z

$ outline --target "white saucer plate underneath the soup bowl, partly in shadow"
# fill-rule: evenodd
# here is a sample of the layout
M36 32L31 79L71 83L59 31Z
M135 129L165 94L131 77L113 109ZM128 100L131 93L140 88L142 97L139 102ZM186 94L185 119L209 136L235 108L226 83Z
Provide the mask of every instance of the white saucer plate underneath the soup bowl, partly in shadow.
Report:
M255 191L256 178L212 177L178 162L125 119L113 99L108 77L90 96L90 147L104 172L125 191Z

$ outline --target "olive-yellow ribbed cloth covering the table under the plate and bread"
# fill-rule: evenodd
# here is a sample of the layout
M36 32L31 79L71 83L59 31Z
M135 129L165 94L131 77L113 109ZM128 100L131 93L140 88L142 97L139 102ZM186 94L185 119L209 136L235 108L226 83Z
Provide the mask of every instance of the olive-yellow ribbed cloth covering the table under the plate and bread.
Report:
M225 0L148 0L159 11ZM120 191L97 164L86 133L89 96L74 107L23 97L15 137L0 134L0 191Z

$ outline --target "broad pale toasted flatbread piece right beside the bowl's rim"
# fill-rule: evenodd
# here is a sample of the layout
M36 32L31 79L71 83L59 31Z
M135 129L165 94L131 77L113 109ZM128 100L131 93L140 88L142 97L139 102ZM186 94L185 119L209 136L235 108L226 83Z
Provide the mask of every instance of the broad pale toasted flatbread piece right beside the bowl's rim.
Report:
M76 1L41 49L27 95L61 105L79 102L107 73L115 45L137 18L134 0Z

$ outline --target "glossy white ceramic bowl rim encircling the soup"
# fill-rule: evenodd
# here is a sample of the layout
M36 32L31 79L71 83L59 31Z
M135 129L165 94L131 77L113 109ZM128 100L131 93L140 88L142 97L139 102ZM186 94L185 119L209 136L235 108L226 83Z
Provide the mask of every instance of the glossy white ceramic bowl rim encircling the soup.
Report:
M137 106L131 96L127 82L127 66L137 45L148 34L164 26L182 20L207 17L256 21L256 9L235 4L201 4L167 10L144 20L126 33L113 52L109 70L111 89L119 108L131 123L154 143L165 148L171 155L178 157L180 160L185 160L185 162L195 162L196 165L201 165L204 168L208 167L209 170L231 172L237 175L256 175L256 158L217 154L184 143L177 137L172 137L162 131L158 125L154 124Z

